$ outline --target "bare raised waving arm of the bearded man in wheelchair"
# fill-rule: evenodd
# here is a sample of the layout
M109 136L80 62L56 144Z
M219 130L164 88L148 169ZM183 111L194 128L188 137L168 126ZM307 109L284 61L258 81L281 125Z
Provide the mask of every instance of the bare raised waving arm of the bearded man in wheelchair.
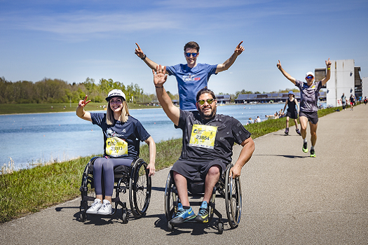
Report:
M161 64L156 67L156 71L152 70L152 73L154 74L154 85L156 87L157 99L163 107L163 111L165 111L166 115L168 116L168 118L170 118L172 123L174 123L175 125L179 125L180 110L179 108L177 108L177 106L174 106L174 104L172 104L168 93L163 87L163 84L168 79L168 75L165 75L165 72L166 66L161 66Z

